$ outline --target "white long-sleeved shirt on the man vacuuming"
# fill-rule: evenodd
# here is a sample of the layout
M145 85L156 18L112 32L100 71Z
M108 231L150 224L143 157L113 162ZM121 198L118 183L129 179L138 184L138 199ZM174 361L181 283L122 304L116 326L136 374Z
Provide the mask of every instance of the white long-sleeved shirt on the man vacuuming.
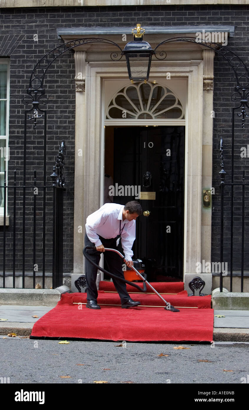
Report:
M106 203L86 219L86 235L95 246L102 245L99 235L105 239L119 235L121 221L121 244L127 260L131 260L133 242L136 238L136 221L122 220L125 205ZM122 228L124 227L123 231Z

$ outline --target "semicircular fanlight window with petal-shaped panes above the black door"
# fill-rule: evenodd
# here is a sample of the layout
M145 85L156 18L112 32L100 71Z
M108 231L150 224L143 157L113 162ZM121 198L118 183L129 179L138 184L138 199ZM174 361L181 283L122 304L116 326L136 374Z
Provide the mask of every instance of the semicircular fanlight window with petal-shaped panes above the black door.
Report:
M184 119L177 96L167 87L137 82L120 90L111 100L106 119Z

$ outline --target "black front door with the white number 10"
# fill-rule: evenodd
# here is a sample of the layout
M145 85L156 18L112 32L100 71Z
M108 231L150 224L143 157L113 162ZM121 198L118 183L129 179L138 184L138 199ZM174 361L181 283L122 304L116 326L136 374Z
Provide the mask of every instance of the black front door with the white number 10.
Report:
M114 129L113 202L141 191L133 252L149 280L183 278L184 159L183 126Z

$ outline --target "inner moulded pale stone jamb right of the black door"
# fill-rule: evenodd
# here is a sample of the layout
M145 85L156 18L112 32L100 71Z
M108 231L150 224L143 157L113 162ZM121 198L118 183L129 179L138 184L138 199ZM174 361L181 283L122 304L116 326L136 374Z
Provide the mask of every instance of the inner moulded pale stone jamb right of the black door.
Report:
M184 282L195 274L201 258L201 160L203 64L191 62L188 77L188 118L186 127L186 191L184 215ZM192 277L191 277L192 279Z

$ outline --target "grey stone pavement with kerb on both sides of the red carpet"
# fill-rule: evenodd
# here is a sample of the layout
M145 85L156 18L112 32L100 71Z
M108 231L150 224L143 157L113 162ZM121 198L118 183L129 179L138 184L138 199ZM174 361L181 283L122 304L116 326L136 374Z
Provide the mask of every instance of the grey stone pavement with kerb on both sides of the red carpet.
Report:
M0 305L0 335L30 335L34 323L53 308L54 306ZM249 310L214 310L213 340L249 342Z

